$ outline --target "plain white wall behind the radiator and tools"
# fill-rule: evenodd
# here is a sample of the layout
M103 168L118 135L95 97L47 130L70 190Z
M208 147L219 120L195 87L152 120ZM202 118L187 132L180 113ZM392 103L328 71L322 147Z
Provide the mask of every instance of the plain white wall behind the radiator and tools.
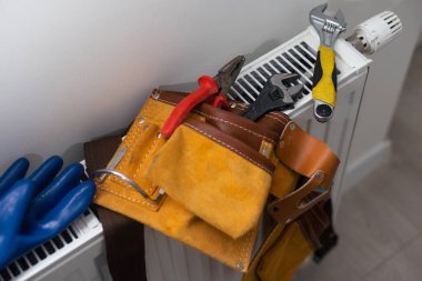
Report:
M19 155L81 159L81 143L125 127L151 89L214 74L237 54L263 54L309 26L320 2L0 0L0 170ZM362 111L380 116L363 127L391 116L421 24L416 2L330 1L350 29L386 8L400 11L406 29L374 57ZM386 127L370 138L368 128L358 130L353 153L384 138Z

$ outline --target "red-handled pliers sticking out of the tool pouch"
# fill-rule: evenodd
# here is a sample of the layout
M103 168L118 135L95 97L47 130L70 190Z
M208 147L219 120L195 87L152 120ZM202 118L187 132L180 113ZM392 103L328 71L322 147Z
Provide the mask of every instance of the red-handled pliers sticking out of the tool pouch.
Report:
M198 79L199 89L184 98L171 112L169 119L161 129L161 136L165 139L170 138L175 128L184 120L188 113L202 101L212 98L213 96L222 96L228 92L230 87L234 83L240 70L244 63L244 57L238 56L229 63L222 67L215 77L211 78L202 76ZM221 102L224 99L214 99ZM218 104L215 104L218 106Z

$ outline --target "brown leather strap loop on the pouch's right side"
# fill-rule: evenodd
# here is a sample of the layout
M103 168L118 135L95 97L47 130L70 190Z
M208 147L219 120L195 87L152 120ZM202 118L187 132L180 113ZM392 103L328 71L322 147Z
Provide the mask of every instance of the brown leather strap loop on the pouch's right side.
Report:
M278 222L287 224L330 198L340 161L324 142L304 132L293 121L285 126L275 153L287 167L309 179L294 192L268 207Z

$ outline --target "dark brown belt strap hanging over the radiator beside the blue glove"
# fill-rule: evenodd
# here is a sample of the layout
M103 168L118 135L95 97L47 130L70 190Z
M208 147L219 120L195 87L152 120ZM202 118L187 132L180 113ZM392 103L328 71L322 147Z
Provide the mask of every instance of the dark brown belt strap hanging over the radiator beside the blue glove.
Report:
M121 137L107 137L83 145L87 171L105 168L121 142ZM103 227L107 261L114 281L147 281L143 224L98 207Z

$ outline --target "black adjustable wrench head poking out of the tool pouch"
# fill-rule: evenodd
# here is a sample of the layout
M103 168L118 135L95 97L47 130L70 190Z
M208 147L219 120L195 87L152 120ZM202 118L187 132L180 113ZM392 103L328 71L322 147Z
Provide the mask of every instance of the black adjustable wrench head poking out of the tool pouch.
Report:
M274 110L287 110L294 107L294 100L302 92L303 86L288 87L285 84L298 80L295 73L279 73L272 76L262 88L257 100L242 112L242 116L255 121L263 114Z

